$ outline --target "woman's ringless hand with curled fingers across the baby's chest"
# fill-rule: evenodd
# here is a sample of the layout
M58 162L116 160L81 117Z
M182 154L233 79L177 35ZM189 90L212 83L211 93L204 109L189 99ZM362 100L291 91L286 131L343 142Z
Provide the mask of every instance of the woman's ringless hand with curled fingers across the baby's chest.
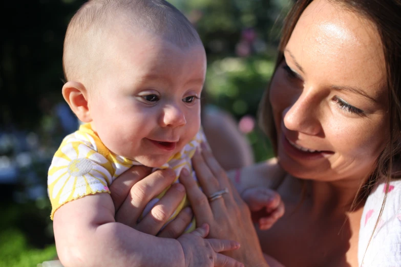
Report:
M174 179L175 172L171 169L157 170L151 173L149 167L134 166L125 171L110 186L116 210L116 221L140 232L156 235L182 201L185 195L183 185L173 184L138 224L137 220L146 204L170 186ZM167 225L159 236L181 235L191 219L192 210L190 208L183 209L174 219L174 224Z

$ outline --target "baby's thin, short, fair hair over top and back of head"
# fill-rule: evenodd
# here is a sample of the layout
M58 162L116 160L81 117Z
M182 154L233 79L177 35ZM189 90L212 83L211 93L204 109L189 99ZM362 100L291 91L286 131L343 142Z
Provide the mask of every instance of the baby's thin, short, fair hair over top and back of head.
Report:
M165 0L90 0L71 18L64 41L63 69L67 81L91 70L88 61L107 44L110 28L119 26L158 35L181 48L201 43L191 22ZM97 41L97 42L96 42ZM82 73L81 73L82 72Z

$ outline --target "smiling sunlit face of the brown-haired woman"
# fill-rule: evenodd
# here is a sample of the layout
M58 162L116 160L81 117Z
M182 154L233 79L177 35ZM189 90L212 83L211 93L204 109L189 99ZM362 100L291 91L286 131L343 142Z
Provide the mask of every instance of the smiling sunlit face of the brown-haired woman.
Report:
M305 179L360 181L389 139L378 32L360 15L315 0L284 57L270 87L281 166Z

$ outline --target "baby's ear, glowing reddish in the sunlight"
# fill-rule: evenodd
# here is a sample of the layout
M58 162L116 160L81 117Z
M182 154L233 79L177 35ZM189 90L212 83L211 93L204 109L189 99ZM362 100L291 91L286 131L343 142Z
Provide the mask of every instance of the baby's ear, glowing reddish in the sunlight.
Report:
M62 86L62 96L80 121L92 121L88 105L88 91L82 83L75 81L66 82Z

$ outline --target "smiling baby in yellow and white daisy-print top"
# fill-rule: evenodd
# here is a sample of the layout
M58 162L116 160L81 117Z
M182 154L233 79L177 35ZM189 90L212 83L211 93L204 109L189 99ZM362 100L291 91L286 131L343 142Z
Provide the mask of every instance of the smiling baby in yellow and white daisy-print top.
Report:
M238 243L204 239L207 230L195 230L195 221L175 240L114 219L108 186L122 172L145 165L172 168L178 178L182 168L192 172L191 158L205 142L199 99L206 56L185 16L163 0L92 0L70 21L63 64L62 95L86 124L64 139L49 169L61 262L240 266L218 254L239 248ZM184 199L174 216L187 205Z

